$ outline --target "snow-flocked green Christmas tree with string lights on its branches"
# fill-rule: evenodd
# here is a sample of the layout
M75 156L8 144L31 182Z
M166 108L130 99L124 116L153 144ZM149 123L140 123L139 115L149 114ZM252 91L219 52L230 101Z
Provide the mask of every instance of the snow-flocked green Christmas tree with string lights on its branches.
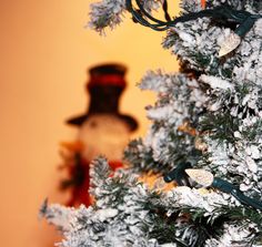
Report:
M165 20L153 17L158 8ZM104 157L93 161L92 206L43 204L61 246L262 246L262 1L183 0L181 10L170 18L165 0L91 6L101 33L129 12L167 30L163 48L181 73L144 75L139 86L158 95L152 125L127 147L128 169L112 175ZM159 176L153 187L140 179L149 173Z

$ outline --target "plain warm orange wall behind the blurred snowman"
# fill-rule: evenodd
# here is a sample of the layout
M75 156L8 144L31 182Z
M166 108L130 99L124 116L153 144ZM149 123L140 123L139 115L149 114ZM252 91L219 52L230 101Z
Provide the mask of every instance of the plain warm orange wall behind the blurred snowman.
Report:
M135 83L148 69L175 71L161 49L164 33L127 18L107 38L84 29L88 0L0 1L0 245L51 247L52 227L38 220L44 197L64 202L57 189L59 142L73 140L64 120L87 107L87 68L101 62L129 66L121 111L135 115L143 135L144 106L153 94Z

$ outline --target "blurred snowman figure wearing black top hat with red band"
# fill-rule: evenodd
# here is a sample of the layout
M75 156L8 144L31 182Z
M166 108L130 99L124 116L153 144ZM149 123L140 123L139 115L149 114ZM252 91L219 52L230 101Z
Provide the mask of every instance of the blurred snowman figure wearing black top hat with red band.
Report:
M119 112L119 100L127 85L122 64L102 64L89 70L87 92L90 104L87 113L69 119L68 124L79 128L73 143L62 144L62 156L69 169L69 179L61 183L71 187L69 206L91 204L89 195L89 164L98 155L104 155L113 169L122 167L122 153L138 122Z

